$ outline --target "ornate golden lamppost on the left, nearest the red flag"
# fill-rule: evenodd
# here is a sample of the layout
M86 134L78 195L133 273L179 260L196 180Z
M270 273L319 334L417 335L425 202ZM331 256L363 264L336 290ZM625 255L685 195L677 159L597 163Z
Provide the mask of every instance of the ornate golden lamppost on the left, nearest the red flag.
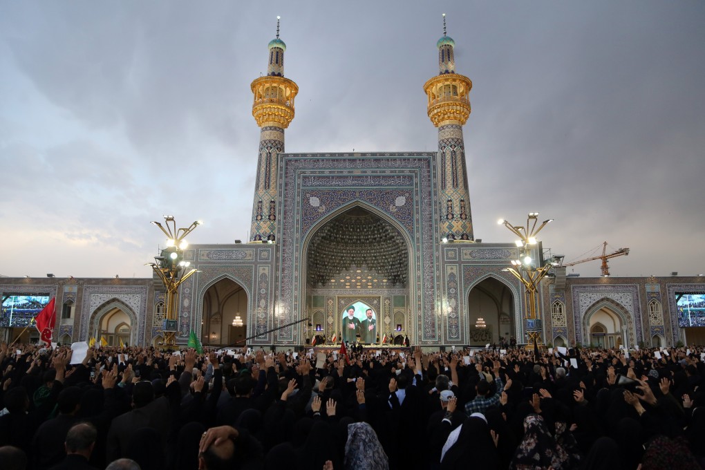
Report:
M184 261L183 251L188 247L185 237L191 233L201 221L195 221L188 228L176 228L173 216L164 216L164 225L153 221L166 235L166 248L159 256L154 256L156 263L149 263L154 273L159 276L166 289L166 318L162 325L164 347L176 347L176 332L178 331L178 287L190 278L197 270L190 268L190 262Z

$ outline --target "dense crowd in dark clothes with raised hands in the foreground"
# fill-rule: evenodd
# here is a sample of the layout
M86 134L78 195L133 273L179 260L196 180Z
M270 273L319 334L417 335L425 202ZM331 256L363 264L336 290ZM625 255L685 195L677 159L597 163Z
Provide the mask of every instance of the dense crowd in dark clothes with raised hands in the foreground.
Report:
M2 344L0 469L705 469L703 353Z

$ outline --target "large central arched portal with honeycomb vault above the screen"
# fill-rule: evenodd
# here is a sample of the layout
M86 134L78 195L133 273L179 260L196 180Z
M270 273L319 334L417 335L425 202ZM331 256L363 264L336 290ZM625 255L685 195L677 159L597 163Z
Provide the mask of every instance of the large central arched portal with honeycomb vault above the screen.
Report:
M350 338L380 342L385 334L393 338L397 324L410 333L410 241L395 221L376 209L355 204L315 228L305 246L302 273L306 303L314 313L324 308L326 338L349 340L342 312L356 302L364 308L354 312L357 322ZM367 325L364 333L362 325Z

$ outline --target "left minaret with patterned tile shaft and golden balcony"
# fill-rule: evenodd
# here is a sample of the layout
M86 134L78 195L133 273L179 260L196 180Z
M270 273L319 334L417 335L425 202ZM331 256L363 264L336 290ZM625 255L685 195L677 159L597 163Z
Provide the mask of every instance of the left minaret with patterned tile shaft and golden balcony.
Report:
M284 78L286 44L279 39L279 17L276 17L276 38L269 42L267 74L252 82L255 94L252 116L259 125L259 156L255 202L252 204L250 242L274 242L276 233L276 175L278 154L284 151L284 129L294 118L294 98L298 85Z

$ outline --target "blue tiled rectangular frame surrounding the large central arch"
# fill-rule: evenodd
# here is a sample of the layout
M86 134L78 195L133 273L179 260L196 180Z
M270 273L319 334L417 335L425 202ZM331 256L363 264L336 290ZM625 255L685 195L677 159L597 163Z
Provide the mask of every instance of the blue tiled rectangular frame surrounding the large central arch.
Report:
M439 340L434 256L434 153L307 154L280 156L277 297L281 323L300 318L305 266L300 259L312 228L343 207L384 214L410 240L412 342ZM335 184L332 184L335 183ZM338 194L338 195L336 195ZM298 328L278 332L280 344L298 342Z

